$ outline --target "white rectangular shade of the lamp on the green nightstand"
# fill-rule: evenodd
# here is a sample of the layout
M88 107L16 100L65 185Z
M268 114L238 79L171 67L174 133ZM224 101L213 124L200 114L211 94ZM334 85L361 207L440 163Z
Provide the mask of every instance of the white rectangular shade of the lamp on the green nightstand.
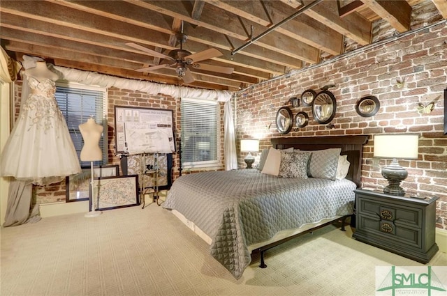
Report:
M418 134L376 134L374 157L418 159Z

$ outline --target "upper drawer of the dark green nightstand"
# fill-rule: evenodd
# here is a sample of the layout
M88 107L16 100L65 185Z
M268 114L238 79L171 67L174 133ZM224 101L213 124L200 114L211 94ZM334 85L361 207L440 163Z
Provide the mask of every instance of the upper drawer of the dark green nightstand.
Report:
M404 207L398 203L389 201L386 203L363 197L360 198L357 209L357 212L363 215L393 221L397 226L422 227L423 210L420 208Z

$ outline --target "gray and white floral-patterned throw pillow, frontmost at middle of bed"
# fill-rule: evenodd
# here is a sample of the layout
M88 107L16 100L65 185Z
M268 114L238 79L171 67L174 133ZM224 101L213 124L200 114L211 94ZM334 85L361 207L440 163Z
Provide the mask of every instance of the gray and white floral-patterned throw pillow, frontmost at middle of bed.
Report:
M307 179L307 162L310 153L281 153L279 177Z

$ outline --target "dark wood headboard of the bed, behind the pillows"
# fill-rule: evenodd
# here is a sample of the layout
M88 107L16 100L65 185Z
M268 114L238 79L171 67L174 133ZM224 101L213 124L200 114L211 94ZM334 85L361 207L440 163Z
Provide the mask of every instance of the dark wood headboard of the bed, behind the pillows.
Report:
M295 148L300 150L322 150L328 148L342 148L342 155L348 155L349 179L361 186L363 145L368 141L367 135L357 136L326 136L326 137L290 137L272 138L273 148Z

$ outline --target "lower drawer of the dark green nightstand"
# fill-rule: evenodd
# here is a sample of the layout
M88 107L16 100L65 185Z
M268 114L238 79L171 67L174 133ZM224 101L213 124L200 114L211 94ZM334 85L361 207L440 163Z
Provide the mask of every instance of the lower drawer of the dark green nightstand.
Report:
M370 217L369 215L359 215L358 229L366 233L371 239L386 240L395 247L413 247L421 249L422 231L419 228L407 228L399 226L379 217Z

